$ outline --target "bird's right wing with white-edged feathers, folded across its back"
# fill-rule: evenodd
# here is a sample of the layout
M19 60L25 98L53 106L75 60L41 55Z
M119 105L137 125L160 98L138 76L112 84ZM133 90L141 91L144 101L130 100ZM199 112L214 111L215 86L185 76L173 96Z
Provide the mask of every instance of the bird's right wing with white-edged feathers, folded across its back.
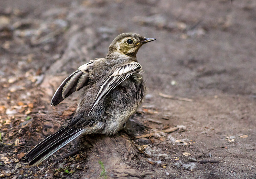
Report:
M111 90L113 90L116 86L118 86L125 79L129 78L132 74L140 70L141 65L137 62L132 62L129 64L125 64L119 67L116 67L113 73L111 73L105 80L102 82L96 98L92 104L92 108L88 115L91 113L92 109L96 106L96 104L106 96Z

